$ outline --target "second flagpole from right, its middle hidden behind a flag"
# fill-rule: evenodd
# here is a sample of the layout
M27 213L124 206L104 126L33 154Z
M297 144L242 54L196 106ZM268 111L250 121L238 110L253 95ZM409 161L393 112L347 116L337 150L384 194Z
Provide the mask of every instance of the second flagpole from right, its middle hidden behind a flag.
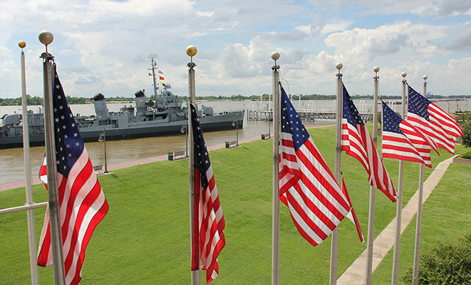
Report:
M407 81L405 76L407 73L403 72L400 74L403 77L403 93L402 93L402 110L400 115L405 120L405 93L407 88ZM400 224L403 213L403 173L404 173L404 161L399 160L399 178L398 178L398 201L395 209L395 239L394 239L394 254L393 254L393 273L391 278L391 285L398 285L399 279L399 254L400 254Z

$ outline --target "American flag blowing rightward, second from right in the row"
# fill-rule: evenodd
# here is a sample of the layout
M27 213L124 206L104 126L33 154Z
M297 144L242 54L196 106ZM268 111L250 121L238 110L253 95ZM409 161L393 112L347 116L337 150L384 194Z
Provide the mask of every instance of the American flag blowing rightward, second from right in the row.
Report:
M423 163L432 168L430 150L438 151L435 142L400 118L383 103L383 157Z

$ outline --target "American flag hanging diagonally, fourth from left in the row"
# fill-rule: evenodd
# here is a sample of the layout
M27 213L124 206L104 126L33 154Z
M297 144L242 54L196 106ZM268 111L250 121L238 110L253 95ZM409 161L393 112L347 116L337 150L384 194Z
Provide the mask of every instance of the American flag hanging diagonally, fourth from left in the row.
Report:
M378 188L395 202L397 194L393 182L345 86L343 86L342 150L361 162L368 172L371 186Z

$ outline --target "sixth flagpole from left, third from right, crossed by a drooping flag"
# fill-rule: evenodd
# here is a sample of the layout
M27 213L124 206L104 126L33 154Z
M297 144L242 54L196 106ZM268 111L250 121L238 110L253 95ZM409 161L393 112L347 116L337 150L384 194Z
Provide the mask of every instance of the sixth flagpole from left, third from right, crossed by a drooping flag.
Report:
M373 95L373 144L378 147L378 71L379 67L373 68L375 72L374 95ZM368 212L368 237L366 241L366 272L365 285L371 285L371 274L373 273L373 242L375 229L375 199L376 188L370 186L370 208Z

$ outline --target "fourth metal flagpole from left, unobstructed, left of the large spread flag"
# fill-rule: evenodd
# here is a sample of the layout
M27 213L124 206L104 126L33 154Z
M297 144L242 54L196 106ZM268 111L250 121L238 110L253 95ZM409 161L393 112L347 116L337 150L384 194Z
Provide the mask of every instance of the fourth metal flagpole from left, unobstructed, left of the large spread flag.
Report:
M279 53L271 53L271 59L275 61L273 70L273 222L271 233L271 284L279 285L279 66L276 61Z

